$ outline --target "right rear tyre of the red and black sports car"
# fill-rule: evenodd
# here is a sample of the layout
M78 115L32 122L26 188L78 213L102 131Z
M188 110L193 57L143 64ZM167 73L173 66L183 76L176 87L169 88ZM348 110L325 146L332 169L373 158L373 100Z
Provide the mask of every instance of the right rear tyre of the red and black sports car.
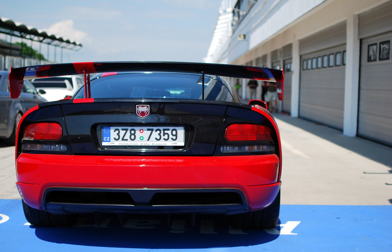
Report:
M230 225L235 229L272 229L279 220L280 190L274 202L259 211L230 215Z

